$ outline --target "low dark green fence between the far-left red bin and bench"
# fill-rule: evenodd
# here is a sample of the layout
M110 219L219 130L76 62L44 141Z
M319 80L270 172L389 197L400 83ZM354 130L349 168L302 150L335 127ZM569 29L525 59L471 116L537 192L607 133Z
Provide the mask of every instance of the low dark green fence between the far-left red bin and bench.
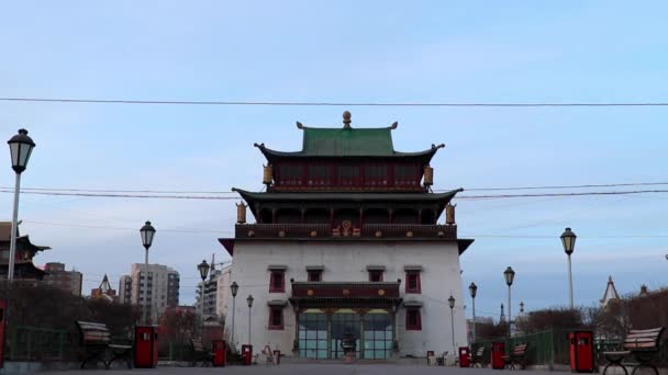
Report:
M63 361L75 354L68 331L27 326L12 329L7 349L10 361Z

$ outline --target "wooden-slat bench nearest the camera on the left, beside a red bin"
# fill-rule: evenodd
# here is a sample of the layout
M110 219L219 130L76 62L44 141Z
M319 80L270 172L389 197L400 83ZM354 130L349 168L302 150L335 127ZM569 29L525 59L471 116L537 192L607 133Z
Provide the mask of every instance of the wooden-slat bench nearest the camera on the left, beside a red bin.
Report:
M132 345L112 343L111 332L104 323L92 321L75 321L79 333L81 333L81 345L86 351L86 359L81 362L81 370L86 363L96 360L102 361L104 368L109 370L111 363L115 360L124 360L127 363L127 368L132 368ZM112 357L105 361L104 354L111 352Z

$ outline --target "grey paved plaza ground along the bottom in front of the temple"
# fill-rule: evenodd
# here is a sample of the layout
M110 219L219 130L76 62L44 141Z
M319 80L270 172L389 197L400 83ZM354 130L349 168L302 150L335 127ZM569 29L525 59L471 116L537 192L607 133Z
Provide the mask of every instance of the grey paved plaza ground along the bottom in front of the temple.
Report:
M81 375L81 371L66 371L57 374ZM315 375L393 375L393 374L447 374L447 375L491 375L501 374L500 371L490 368L459 368L459 367L439 367L439 366L423 366L423 365L396 365L396 364L281 364L279 366L226 366L226 367L157 367L157 368L133 368L119 371L86 371L85 373L99 373L100 375L140 375L140 374L276 374L276 375L294 375L294 374L315 374ZM514 373L514 372L513 372ZM535 375L547 372L522 371L523 375Z

